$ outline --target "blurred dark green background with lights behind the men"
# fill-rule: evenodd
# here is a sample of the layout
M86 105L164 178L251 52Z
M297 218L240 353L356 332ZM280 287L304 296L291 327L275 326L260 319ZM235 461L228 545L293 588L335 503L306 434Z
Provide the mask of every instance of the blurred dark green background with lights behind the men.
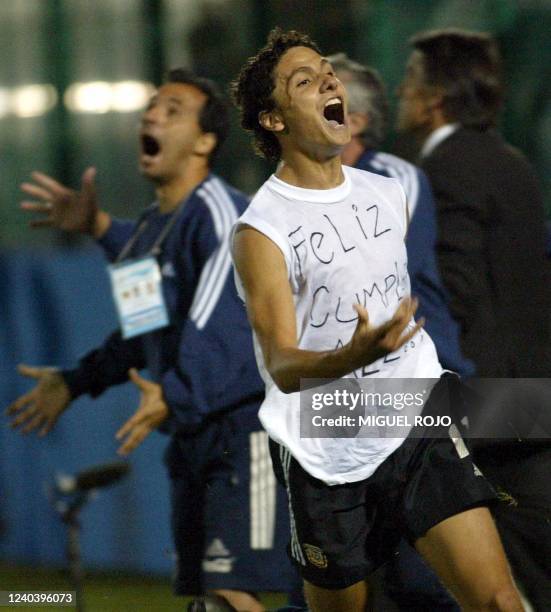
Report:
M94 112L71 110L72 86L158 83L175 66L226 86L274 25L372 64L393 103L413 33L444 26L494 33L507 81L502 128L536 165L551 212L551 0L2 0L0 246L63 244L51 232L31 233L18 210L19 184L33 169L77 186L83 170L97 166L102 203L119 216L151 200L136 170L139 96L140 108L130 111L101 101ZM37 84L49 86L40 90L49 96L46 112L24 89ZM217 170L252 192L271 169L253 156L235 115L233 123ZM387 148L395 145L391 134Z

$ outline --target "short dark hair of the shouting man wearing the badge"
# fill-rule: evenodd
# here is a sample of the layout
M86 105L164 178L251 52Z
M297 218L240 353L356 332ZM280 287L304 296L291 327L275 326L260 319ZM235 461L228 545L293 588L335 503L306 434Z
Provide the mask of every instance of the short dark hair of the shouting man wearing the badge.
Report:
M197 76L186 68L170 70L166 82L192 85L207 97L199 113L199 127L203 134L212 133L216 136L216 146L209 155L209 161L212 163L218 150L228 137L230 129L228 104L222 92L214 81Z

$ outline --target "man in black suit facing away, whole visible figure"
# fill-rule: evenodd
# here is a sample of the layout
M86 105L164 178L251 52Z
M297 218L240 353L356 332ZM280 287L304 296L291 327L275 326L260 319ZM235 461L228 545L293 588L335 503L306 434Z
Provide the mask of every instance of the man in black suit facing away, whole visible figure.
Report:
M497 45L462 30L422 33L412 45L398 127L422 143L462 350L479 376L550 376L543 200L529 163L494 129L503 93ZM495 517L517 579L534 609L549 609L549 439L497 442L477 440L475 460L508 496Z

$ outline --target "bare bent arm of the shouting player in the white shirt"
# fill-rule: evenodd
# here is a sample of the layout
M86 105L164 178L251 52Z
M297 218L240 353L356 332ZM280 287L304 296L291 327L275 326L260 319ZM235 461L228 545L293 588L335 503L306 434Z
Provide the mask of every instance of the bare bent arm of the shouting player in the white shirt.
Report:
M235 235L234 260L264 362L284 393L298 391L301 378L340 378L373 363L400 348L423 325L421 320L406 332L417 308L414 300L404 299L393 317L378 327L369 323L367 310L357 304L356 330L343 348L333 351L299 349L295 306L279 248L264 234L243 226Z

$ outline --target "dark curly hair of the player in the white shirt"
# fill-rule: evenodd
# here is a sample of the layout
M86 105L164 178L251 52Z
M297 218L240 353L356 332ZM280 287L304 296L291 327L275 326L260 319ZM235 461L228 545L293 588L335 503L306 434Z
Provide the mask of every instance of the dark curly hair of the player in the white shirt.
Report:
M272 98L275 88L274 69L281 56L292 47L309 47L320 53L316 43L307 34L274 28L268 35L266 45L247 60L230 86L241 115L242 127L252 132L255 151L269 161L279 160L281 145L272 132L260 125L258 118L262 111L269 112L275 108Z

